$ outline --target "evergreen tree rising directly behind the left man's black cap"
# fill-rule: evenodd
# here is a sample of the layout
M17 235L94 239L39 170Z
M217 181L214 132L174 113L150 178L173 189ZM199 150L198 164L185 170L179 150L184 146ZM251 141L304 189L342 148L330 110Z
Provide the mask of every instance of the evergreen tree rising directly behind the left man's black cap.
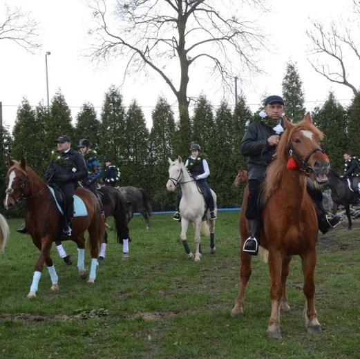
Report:
M48 152L52 151L55 146L55 139L60 135L68 135L75 146L73 125L71 124L71 110L66 104L65 97L61 90L57 90L51 100L50 114L45 118L45 138L44 144Z

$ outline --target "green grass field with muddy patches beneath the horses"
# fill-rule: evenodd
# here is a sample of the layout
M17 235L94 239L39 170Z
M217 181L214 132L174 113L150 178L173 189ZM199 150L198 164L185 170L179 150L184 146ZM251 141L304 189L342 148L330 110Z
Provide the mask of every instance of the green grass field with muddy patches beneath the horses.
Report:
M151 229L130 223L130 260L109 232L95 284L77 267L53 259L59 291L44 269L36 298L26 298L39 252L15 229L0 256L0 358L360 358L360 231L344 226L319 235L316 309L323 332L307 333L300 259L288 281L292 311L281 316L283 340L267 339L267 264L254 258L245 313L231 318L240 268L238 213L220 212L216 254L202 238L202 260L190 262L171 215L154 215ZM111 221L110 221L111 222ZM354 226L355 228L355 226ZM194 251L193 231L189 246ZM64 242L76 259L73 242ZM76 262L76 261L75 261ZM86 258L90 269L90 258Z

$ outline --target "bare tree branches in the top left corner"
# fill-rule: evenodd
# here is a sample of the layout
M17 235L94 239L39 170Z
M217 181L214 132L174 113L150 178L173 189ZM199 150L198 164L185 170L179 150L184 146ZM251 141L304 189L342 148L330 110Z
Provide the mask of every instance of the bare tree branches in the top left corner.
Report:
M5 12L0 18L0 40L15 41L28 52L34 52L41 46L37 43L39 24L30 18L28 12L19 8L11 9L5 4Z

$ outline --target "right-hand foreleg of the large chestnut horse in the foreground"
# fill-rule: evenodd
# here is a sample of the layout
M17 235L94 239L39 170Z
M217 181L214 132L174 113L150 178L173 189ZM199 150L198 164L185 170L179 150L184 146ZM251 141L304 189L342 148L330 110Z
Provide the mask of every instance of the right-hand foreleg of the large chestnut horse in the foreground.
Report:
M304 294L306 297L305 303L305 323L309 333L321 333L321 326L317 320L317 313L315 309L315 282L314 271L316 266L316 251L312 251L301 258L304 275Z

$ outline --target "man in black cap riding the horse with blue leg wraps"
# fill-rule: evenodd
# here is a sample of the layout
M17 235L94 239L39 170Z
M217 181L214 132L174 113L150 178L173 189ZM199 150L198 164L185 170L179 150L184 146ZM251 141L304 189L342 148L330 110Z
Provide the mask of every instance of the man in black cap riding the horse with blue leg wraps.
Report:
M84 157L71 148L71 140L67 135L55 139L57 151L53 151L50 164L46 168L44 179L51 186L58 186L64 192L66 201L66 221L63 235L71 235L71 224L74 215L73 195L77 182L88 174Z

